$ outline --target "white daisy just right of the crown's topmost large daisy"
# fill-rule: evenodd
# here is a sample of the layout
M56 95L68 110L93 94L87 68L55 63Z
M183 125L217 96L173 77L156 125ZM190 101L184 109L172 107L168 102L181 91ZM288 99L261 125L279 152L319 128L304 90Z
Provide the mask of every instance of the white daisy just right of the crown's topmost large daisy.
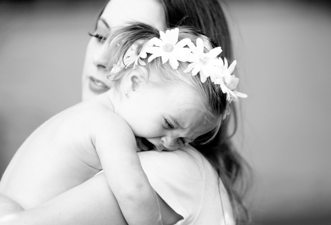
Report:
M188 45L192 50L192 63L190 63L185 73L192 71L192 76L195 76L200 72L200 79L202 83L205 83L207 77L211 76L216 72L215 66L220 65L219 60L216 58L221 52L221 47L216 47L210 50L209 53L204 53L204 42L201 38L197 38L197 46L193 43Z

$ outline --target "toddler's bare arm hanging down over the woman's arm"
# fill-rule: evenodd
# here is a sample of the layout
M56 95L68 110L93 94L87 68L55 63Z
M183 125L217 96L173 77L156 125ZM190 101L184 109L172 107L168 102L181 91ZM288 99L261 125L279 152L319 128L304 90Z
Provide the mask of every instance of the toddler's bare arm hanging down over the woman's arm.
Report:
M94 144L127 223L162 224L157 195L141 167L133 132L117 115L107 118L96 124Z

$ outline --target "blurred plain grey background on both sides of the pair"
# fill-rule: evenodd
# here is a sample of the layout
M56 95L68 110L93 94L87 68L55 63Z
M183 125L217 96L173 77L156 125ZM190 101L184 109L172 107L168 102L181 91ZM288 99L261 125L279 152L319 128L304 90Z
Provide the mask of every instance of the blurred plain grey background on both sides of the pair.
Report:
M0 174L27 136L81 100L88 32L105 3L0 1ZM229 0L241 152L256 224L331 224L331 7Z

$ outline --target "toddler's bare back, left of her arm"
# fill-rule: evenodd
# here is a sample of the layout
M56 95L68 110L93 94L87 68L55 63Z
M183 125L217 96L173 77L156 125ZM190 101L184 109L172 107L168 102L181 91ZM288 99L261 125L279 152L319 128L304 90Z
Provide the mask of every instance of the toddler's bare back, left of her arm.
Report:
M46 121L15 154L0 192L29 209L94 176L102 169L94 147L94 125L114 115L110 100L100 95Z

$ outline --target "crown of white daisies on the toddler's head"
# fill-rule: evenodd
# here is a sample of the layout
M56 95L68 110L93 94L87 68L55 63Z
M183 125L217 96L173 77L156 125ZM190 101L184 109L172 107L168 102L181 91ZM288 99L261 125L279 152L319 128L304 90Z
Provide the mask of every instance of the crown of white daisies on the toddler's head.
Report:
M179 29L174 28L166 30L166 33L160 31L160 38L154 37L150 40L138 40L134 42L125 53L123 60L118 61L113 65L111 73L118 73L124 66L133 64L146 65L142 60L147 57L147 53L151 54L147 62L151 62L156 57L162 58L162 63L169 61L173 69L178 68L178 60L182 62L190 62L185 73L192 72L192 76L200 73L202 83L205 83L210 77L211 81L219 85L222 92L226 94L226 100L231 103L232 100L238 97L246 98L247 94L233 91L238 85L239 78L231 75L236 65L234 60L228 67L226 58L223 60L217 56L222 52L221 47L216 47L208 53L204 53L204 43L201 38L197 38L196 46L189 38L184 38L178 41ZM118 44L119 45L119 44ZM185 47L185 46L188 46ZM229 104L226 106L225 116L230 113Z

